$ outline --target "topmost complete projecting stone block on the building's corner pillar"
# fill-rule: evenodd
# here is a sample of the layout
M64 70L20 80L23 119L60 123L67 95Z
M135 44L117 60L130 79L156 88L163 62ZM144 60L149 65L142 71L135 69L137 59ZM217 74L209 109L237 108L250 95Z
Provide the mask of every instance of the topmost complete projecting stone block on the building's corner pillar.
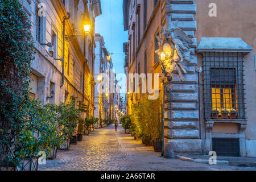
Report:
M192 13L196 14L196 4L168 4L166 13Z

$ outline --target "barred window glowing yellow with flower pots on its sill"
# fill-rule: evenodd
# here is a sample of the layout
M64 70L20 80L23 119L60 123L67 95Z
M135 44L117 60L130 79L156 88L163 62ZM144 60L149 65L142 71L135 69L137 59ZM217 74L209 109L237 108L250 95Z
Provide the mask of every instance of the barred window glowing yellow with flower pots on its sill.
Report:
M207 119L245 119L243 55L204 52L204 104Z

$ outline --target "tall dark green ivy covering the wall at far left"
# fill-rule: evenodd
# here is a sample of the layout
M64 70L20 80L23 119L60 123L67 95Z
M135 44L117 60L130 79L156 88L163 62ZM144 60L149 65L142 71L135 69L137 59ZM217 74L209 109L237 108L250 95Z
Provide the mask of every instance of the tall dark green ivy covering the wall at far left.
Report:
M34 53L31 23L19 0L0 0L0 166L15 163Z

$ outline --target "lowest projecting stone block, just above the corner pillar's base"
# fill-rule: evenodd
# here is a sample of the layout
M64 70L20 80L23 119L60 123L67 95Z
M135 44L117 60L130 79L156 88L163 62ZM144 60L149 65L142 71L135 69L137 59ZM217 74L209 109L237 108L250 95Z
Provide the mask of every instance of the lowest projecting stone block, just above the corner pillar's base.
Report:
M199 138L199 130L197 129L170 129L168 138L171 139L197 139Z

